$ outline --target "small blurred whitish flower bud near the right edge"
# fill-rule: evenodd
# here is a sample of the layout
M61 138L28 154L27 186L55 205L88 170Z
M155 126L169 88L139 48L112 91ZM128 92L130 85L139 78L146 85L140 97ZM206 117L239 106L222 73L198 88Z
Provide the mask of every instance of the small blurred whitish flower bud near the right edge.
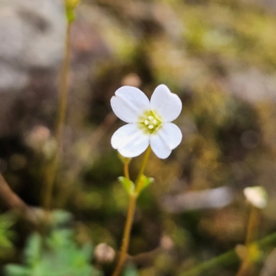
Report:
M266 207L268 196L263 187L247 187L244 189L244 195L253 206L261 209Z

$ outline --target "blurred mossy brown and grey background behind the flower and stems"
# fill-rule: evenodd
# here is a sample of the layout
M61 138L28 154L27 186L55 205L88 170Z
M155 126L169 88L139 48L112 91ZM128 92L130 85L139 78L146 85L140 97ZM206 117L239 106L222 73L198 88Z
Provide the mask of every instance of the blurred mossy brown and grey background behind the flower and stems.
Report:
M65 34L62 1L0 0L0 172L38 208L55 147ZM129 253L138 256L131 271L139 274L131 275L185 275L243 244L248 186L268 191L258 237L273 233L275 49L273 0L81 1L71 32L65 150L53 200L73 215L78 243L119 249L128 196L117 181L123 166L110 137L124 123L113 115L110 98L123 85L150 97L160 83L181 98L175 124L183 140L168 159L150 156L146 175L155 183L138 200ZM132 160L132 179L140 164L141 157ZM2 205L0 264L19 264L32 228L7 218ZM272 265L266 263L271 250L250 275L276 275L262 270ZM95 266L103 275L112 271L112 264ZM202 275L231 276L238 268Z

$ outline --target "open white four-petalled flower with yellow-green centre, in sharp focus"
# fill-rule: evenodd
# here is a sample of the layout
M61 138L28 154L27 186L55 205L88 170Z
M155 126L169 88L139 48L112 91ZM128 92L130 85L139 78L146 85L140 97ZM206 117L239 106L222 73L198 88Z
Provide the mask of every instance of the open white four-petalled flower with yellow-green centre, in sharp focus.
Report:
M138 88L123 86L111 99L111 107L125 126L111 138L111 145L125 157L136 157L150 147L157 157L164 159L182 139L178 126L172 124L182 108L179 97L161 84L148 100Z

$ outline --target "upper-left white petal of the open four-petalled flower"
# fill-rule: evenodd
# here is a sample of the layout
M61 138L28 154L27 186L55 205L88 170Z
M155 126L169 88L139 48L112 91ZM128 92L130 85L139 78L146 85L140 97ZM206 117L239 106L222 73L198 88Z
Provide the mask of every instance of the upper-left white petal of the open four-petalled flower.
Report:
M122 86L111 98L111 107L122 121L136 123L138 117L150 109L150 101L138 88Z

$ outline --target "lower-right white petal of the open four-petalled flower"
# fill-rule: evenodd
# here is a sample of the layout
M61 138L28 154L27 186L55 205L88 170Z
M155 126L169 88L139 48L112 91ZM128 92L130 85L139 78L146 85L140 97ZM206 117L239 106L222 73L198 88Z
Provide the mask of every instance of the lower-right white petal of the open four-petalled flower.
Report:
M157 157L164 159L176 148L182 139L182 133L178 126L165 123L157 133L150 137L150 147Z

